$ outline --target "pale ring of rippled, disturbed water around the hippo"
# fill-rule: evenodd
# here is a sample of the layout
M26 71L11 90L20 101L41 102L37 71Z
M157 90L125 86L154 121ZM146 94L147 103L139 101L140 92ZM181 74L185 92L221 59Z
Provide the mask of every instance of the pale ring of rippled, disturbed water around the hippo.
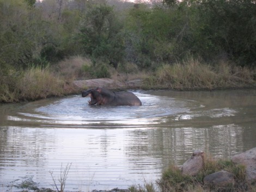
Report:
M89 106L89 97L73 96L35 108L34 113L8 116L9 120L38 122L44 126L146 126L159 123L160 117L189 112L187 101L135 92L142 106ZM191 102L191 101L190 101Z

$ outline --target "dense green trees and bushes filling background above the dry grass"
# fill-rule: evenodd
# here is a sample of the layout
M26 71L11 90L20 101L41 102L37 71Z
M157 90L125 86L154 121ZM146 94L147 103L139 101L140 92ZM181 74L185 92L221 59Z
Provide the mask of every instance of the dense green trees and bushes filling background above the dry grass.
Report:
M92 60L84 69L94 77L108 77L109 66L157 71L188 57L255 66L255 0L152 2L0 0L1 94L23 70L75 55Z

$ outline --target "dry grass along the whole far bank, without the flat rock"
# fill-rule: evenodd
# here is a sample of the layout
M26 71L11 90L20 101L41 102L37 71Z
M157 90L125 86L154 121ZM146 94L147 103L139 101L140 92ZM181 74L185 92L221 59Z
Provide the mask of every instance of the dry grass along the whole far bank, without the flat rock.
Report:
M139 71L135 64L120 65L118 70L106 64L92 65L88 58L72 57L53 66L31 66L25 71L10 69L0 78L0 102L38 100L78 92L74 79L108 77L126 82L143 79L142 89L213 90L255 87L256 70L228 61L206 64L187 57L182 62L162 64L155 71Z

